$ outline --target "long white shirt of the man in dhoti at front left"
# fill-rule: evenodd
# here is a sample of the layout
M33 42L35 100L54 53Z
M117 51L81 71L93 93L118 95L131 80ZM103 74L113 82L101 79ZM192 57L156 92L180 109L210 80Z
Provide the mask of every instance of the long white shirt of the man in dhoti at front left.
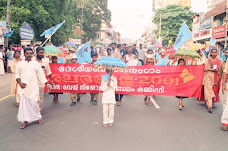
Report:
M24 89L18 86L18 94L25 95L28 99L37 102L39 100L39 81L42 84L47 82L40 64L34 60L18 62L15 77L20 78L21 82L26 84Z

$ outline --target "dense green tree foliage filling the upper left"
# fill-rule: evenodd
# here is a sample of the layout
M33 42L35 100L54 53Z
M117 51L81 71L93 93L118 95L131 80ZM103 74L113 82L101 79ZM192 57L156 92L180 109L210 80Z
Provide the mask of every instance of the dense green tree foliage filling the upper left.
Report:
M0 1L0 20L6 20L7 0ZM46 29L66 20L53 35L54 44L62 44L74 35L75 26L80 26L86 39L94 39L101 27L102 19L111 21L107 0L11 0L10 27L14 34L10 43L19 43L19 28L28 22L34 32L34 41L42 40L40 34ZM83 39L84 41L85 39Z

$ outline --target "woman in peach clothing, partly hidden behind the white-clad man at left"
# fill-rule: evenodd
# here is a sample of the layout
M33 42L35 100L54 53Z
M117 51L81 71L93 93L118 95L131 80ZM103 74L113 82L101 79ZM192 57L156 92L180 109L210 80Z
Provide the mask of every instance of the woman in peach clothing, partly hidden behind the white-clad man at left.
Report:
M17 66L17 63L19 61L21 61L21 52L19 50L15 50L14 52L14 59L10 65L10 68L11 68L11 71L13 73L12 75L12 81L11 81L11 95L12 96L16 96L16 107L19 107L19 97L18 97L18 94L17 94L17 85L18 83L16 82L16 78L15 78L15 71L16 71L16 66Z

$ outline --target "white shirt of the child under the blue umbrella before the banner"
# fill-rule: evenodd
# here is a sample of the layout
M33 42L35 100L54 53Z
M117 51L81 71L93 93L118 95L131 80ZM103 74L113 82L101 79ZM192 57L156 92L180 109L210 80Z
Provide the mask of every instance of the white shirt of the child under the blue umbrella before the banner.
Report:
M101 90L103 91L102 104L116 104L115 90L117 88L117 79L111 76L110 86L108 81L101 82Z

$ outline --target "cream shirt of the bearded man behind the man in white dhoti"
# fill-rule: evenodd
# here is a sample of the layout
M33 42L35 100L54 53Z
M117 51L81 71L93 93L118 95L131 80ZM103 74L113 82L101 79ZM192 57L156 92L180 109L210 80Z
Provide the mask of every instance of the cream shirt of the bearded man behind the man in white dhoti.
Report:
M42 68L42 71L44 73L45 76L49 76L52 74L51 72L51 68L50 68L50 65L49 65L49 59L48 58L43 58L41 61L38 61L37 62L40 64L41 68ZM41 88L44 88L45 87L45 84L42 84L40 81L39 81L39 87Z

